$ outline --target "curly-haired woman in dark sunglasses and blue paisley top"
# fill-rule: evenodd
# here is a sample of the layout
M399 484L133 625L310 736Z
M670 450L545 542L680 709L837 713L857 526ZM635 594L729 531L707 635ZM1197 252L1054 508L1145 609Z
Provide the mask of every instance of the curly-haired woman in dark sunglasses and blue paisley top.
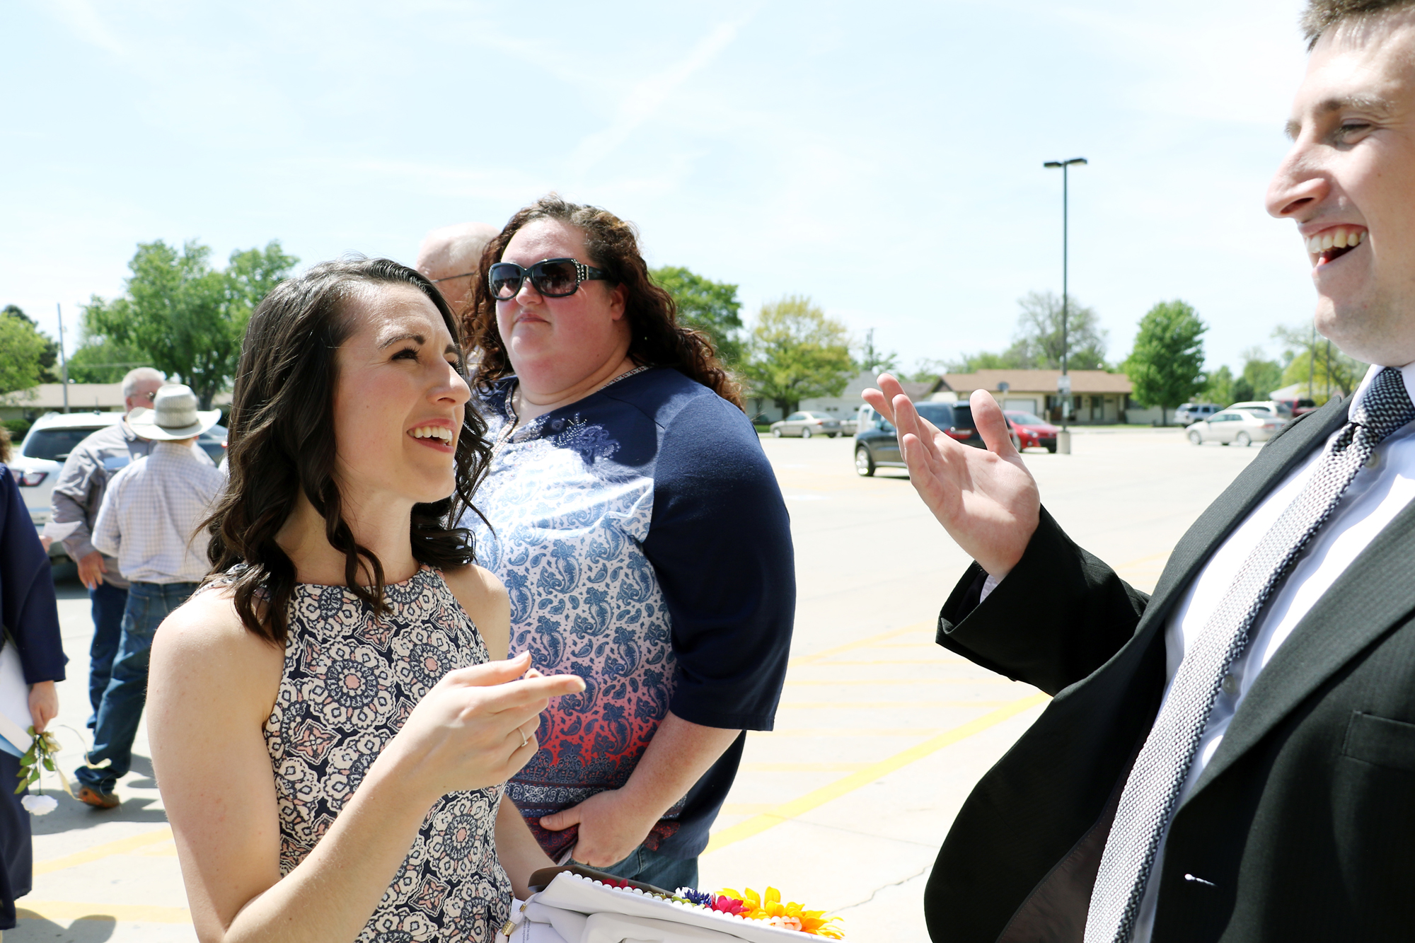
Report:
M483 256L468 310L494 455L474 517L511 650L586 691L543 715L507 794L545 851L662 888L770 729L795 576L737 385L676 321L633 227L549 195Z

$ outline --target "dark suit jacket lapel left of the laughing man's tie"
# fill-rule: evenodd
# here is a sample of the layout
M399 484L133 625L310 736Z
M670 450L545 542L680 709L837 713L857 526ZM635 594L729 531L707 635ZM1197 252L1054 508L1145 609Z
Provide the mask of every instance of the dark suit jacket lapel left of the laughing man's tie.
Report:
M1165 572L1155 585L1150 605L1145 607L1145 620L1136 626L1136 631L1143 630L1146 623L1169 616L1169 609L1179 600L1190 581L1248 513L1306 459L1313 447L1326 442L1327 436L1346 423L1347 408L1348 404L1333 399L1316 413L1307 413L1310 419L1303 418L1290 430L1264 446L1252 464L1224 488L1224 493L1174 545Z

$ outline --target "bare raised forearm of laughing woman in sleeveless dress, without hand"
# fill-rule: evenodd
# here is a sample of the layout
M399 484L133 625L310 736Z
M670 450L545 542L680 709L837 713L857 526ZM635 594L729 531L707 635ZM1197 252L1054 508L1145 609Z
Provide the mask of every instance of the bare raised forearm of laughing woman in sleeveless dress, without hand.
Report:
M429 808L375 763L308 857L246 903L221 943L350 943L398 876Z

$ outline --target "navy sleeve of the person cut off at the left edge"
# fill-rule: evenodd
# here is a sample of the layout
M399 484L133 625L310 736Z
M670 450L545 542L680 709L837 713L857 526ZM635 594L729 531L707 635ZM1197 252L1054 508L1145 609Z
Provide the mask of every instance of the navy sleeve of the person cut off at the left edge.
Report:
M0 464L0 620L14 639L27 684L62 681L64 644L50 558L10 469Z

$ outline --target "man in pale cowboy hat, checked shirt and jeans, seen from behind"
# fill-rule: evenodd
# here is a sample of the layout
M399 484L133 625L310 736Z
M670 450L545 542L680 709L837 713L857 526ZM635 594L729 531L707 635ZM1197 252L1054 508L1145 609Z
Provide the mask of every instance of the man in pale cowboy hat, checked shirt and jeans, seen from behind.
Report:
M127 423L153 442L153 450L109 480L93 522L93 547L116 556L129 581L123 634L99 704L93 749L74 773L76 797L96 808L117 806L113 786L132 765L133 736L147 702L153 633L207 575L208 538L197 527L225 476L192 446L219 418L219 409L198 412L197 395L180 384L158 389L151 409L130 412Z

